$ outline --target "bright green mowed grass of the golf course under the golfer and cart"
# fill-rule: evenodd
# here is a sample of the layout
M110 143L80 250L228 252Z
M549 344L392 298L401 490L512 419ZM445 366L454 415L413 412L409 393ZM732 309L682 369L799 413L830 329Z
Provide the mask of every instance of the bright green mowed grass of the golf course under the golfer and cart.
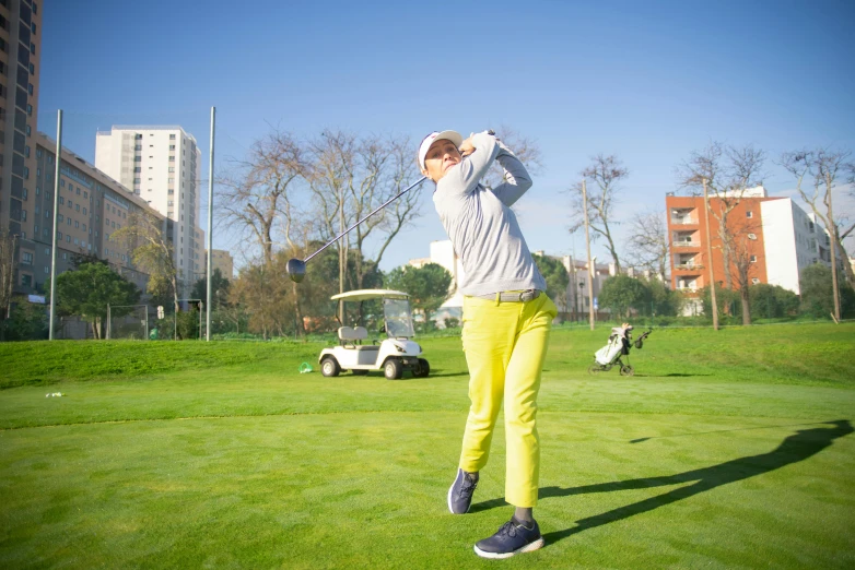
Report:
M445 504L459 339L402 381L300 375L319 344L0 345L0 567L855 567L855 324L655 330L588 376L607 336L553 333L547 546L502 562L472 553L511 514L501 425Z

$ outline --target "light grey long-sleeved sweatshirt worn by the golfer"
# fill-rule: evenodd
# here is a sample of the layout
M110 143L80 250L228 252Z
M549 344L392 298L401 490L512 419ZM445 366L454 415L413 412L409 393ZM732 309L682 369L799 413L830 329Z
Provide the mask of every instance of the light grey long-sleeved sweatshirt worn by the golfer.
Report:
M537 269L511 205L531 188L525 166L504 144L485 132L472 136L475 152L448 169L436 185L433 202L454 250L460 258L464 295L540 289L547 284ZM505 180L492 190L479 183L493 161Z

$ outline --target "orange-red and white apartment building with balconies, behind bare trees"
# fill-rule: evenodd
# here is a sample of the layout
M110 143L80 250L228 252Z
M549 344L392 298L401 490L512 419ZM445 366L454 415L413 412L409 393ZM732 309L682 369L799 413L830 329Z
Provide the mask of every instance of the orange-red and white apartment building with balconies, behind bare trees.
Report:
M668 236L671 248L671 287L694 293L710 284L704 201L700 197L666 195ZM713 273L726 282L719 223L713 212L722 212L719 198L710 199L710 236ZM727 216L737 247L749 259L752 284L780 285L799 294L801 270L817 262L829 263L828 233L793 200L769 197L763 187L746 190ZM728 268L734 277L733 266ZM733 286L738 287L736 278Z

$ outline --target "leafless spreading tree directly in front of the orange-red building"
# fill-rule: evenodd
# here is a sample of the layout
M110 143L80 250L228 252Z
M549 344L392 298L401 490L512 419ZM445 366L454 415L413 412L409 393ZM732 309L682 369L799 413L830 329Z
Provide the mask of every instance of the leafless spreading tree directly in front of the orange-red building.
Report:
M710 212L718 222L718 239L722 242L725 287L733 288L730 275L731 246L735 242L728 226L728 216L739 205L749 188L762 183L765 153L753 145L724 145L713 141L706 149L692 152L688 161L678 166L679 183L691 195L702 195L703 180L707 181L710 198L716 198L716 207Z

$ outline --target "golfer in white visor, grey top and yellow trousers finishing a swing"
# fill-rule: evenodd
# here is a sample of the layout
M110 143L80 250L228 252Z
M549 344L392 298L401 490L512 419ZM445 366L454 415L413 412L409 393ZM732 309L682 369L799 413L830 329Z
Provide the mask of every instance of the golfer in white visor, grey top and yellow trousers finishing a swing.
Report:
M493 161L505 177L488 189L479 180ZM466 140L455 131L429 134L419 147L419 167L436 182L436 212L465 273L458 286L464 294L462 344L471 406L448 509L454 514L469 511L504 402L505 500L515 512L493 536L478 542L475 551L484 558L507 558L543 546L532 515L540 465L537 395L558 310L543 293L546 281L511 210L531 179L511 150L488 132Z

